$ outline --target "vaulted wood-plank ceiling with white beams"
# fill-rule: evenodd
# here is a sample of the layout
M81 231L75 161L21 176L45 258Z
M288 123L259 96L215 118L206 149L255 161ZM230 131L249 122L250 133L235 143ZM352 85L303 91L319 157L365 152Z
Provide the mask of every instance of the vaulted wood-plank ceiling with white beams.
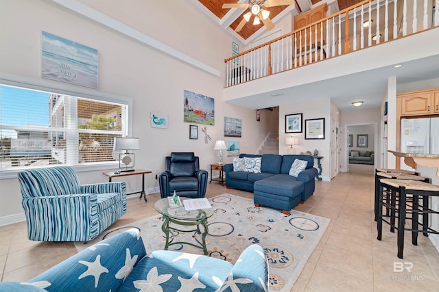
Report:
M250 8L232 8L223 9L224 3L248 3L248 0L190 0L195 7L204 12L215 23L226 29L233 37L241 40L241 42L248 43L257 38L260 34L266 31L263 23L253 25L252 21L246 23L239 32L235 32L237 25L241 22L244 14L250 11ZM292 16L299 15L302 12L309 10L315 4L327 2L332 8L332 13L344 10L345 8L361 2L361 0L294 0L292 5L274 6L265 8L270 11L270 19L273 21L275 27L276 22L280 21L283 16L289 14Z

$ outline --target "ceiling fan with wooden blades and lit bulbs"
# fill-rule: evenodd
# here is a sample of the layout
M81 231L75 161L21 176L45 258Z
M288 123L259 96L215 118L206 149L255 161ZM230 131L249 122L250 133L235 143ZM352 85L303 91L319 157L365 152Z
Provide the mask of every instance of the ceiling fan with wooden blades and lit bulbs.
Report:
M222 8L250 8L250 11L244 14L242 21L235 28L236 32L241 31L244 25L250 21L250 17L252 15L254 15L254 25L259 25L259 23L261 23L260 21L262 21L267 30L271 30L274 28L274 24L268 17L270 15L270 11L263 8L291 5L293 2L294 0L248 0L248 3L224 3Z

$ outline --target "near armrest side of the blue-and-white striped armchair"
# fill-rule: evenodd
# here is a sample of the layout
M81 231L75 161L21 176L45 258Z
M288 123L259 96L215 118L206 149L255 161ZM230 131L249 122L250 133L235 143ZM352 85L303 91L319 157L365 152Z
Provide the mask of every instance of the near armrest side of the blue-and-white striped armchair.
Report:
M96 194L23 198L27 235L36 241L84 241L98 235Z

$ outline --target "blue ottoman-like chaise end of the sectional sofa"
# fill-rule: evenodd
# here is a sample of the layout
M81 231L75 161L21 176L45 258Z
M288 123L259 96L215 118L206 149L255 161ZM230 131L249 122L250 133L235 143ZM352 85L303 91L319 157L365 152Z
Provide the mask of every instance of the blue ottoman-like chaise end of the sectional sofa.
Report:
M276 174L254 183L253 202L256 207L265 206L280 209L289 214L300 202L303 183L288 174Z

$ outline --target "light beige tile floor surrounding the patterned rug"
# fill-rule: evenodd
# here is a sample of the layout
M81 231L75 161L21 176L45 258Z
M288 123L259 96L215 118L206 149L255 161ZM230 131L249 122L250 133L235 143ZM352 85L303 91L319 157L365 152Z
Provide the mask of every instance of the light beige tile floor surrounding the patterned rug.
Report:
M439 291L439 252L427 237L420 235L414 246L407 234L403 260L396 256L396 233L387 225L383 240L377 240L373 189L373 174L349 172L331 182L316 181L313 196L295 209L328 217L331 223L292 291ZM224 193L252 198L252 193L215 182L206 196ZM128 212L110 228L155 215L159 197L148 195L147 203L128 199ZM0 227L2 281L29 280L75 253L73 243L29 241L25 222ZM412 269L399 272L399 265Z

